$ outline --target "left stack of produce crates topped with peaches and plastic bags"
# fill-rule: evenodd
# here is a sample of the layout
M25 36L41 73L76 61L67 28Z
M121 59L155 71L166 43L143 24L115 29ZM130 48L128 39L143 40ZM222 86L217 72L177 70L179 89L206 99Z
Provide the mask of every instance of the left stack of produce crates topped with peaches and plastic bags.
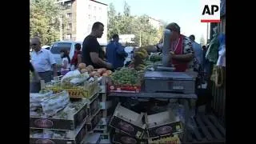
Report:
M110 143L105 77L111 71L81 65L30 93L30 143ZM100 134L98 131L103 131ZM106 137L107 136L107 137Z

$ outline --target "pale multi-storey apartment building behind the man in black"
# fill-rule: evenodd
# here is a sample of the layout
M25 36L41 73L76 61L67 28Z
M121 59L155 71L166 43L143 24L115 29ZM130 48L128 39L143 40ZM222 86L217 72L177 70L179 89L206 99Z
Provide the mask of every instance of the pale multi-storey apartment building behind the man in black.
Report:
M82 42L94 22L102 22L104 33L98 42L107 42L107 5L94 0L58 0L63 6L67 24L62 26L62 39Z

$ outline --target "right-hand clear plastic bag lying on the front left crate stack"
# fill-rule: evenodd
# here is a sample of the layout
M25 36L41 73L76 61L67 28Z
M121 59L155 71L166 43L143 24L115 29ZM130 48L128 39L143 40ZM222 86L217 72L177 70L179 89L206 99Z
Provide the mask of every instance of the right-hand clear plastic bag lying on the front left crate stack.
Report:
M46 114L46 117L48 117L57 114L57 112L65 108L69 102L69 94L66 92L66 90L63 90L60 93L52 94L49 98L43 99L41 105L44 114Z

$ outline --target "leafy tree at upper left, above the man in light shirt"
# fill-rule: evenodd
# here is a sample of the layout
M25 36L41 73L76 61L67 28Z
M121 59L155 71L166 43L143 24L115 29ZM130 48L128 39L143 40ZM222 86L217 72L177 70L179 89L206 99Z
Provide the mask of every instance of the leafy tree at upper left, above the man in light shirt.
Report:
M42 45L59 40L61 6L55 0L30 0L30 38L38 36ZM66 21L64 20L64 26Z

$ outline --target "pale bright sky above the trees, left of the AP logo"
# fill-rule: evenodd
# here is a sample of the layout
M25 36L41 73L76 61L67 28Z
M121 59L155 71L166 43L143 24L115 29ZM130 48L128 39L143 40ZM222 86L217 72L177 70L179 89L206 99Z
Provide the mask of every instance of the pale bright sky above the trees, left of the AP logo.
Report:
M117 12L123 11L125 0L97 0L110 5L112 2ZM181 27L181 34L187 37L194 34L195 41L206 40L207 24L200 22L201 0L126 0L132 15L147 14L167 23L176 22Z

